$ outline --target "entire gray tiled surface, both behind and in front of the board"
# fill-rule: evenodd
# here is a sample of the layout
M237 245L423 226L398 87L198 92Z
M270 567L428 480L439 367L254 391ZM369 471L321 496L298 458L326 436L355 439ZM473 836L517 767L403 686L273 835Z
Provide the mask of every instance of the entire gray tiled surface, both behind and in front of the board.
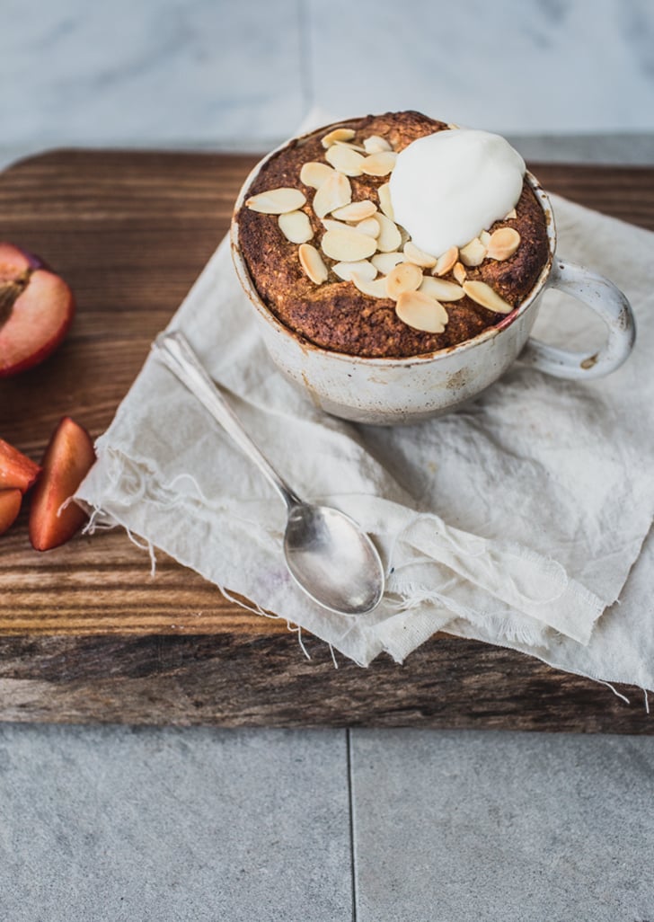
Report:
M649 0L4 11L0 168L396 106L654 163ZM653 779L654 738L0 725L0 920L647 922Z

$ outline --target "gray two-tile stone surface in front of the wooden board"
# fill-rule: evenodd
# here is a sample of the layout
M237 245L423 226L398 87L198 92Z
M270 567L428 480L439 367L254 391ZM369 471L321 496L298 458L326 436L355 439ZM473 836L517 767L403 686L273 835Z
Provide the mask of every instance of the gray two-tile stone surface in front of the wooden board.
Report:
M0 725L12 922L645 922L654 738Z

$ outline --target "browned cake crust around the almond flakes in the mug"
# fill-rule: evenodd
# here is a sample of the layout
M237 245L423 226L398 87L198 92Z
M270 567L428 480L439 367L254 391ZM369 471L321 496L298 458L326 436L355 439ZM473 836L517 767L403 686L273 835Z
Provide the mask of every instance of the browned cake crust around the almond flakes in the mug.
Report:
M371 135L379 135L396 151L418 137L448 128L447 124L420 112L368 115L338 125L355 130L352 139L355 144L361 144ZM301 183L299 173L302 165L310 160L325 162L321 137L327 130L316 131L307 140L294 140L275 154L264 164L245 196L247 199L280 186L300 189L307 198L302 210L308 215L314 231L311 243L317 247L325 231L311 208L315 189ZM368 198L377 201L377 190L388 179L388 176L368 175L350 178L352 201ZM514 307L529 293L548 256L543 209L526 181L516 212L515 219L497 221L490 229L515 228L520 233L516 253L503 262L486 258L480 266L466 267L468 279L485 281ZM275 215L261 214L243 206L238 220L240 251L262 301L284 325L323 349L366 358L416 356L477 336L504 317L466 296L447 303L450 319L442 333L422 332L399 319L391 299L363 294L353 282L338 278L331 271L334 260L323 257L330 268L326 282L316 285L310 281L300 266L298 245L286 240ZM451 280L451 273L445 278Z

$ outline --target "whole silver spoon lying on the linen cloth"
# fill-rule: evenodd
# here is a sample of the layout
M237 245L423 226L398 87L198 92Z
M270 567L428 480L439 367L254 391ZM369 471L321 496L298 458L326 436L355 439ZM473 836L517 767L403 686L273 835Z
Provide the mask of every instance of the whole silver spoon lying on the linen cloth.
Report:
M384 571L368 535L349 515L329 506L309 505L298 498L251 441L179 330L159 334L152 349L259 467L286 503L284 553L288 570L299 587L323 608L342 615L372 611L384 592Z

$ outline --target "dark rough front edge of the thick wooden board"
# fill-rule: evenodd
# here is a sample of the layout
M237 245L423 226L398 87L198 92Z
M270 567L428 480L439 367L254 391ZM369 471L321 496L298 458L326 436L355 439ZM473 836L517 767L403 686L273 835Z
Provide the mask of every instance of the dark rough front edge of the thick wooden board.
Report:
M0 719L219 727L421 727L654 733L637 690L443 635L367 669L307 638L0 640ZM435 644L440 644L438 656ZM622 689L623 687L621 687Z

